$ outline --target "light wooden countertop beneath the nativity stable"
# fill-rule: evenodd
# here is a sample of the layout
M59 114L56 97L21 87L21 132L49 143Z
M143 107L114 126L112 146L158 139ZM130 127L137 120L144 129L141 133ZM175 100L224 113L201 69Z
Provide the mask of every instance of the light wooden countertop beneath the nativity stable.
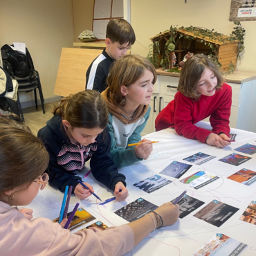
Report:
M157 68L156 73L158 75L167 75L172 77L180 77L179 73L165 72L162 68ZM225 75L225 82L233 82L235 84L243 84L244 82L249 82L256 79L255 71L235 71L230 75Z

